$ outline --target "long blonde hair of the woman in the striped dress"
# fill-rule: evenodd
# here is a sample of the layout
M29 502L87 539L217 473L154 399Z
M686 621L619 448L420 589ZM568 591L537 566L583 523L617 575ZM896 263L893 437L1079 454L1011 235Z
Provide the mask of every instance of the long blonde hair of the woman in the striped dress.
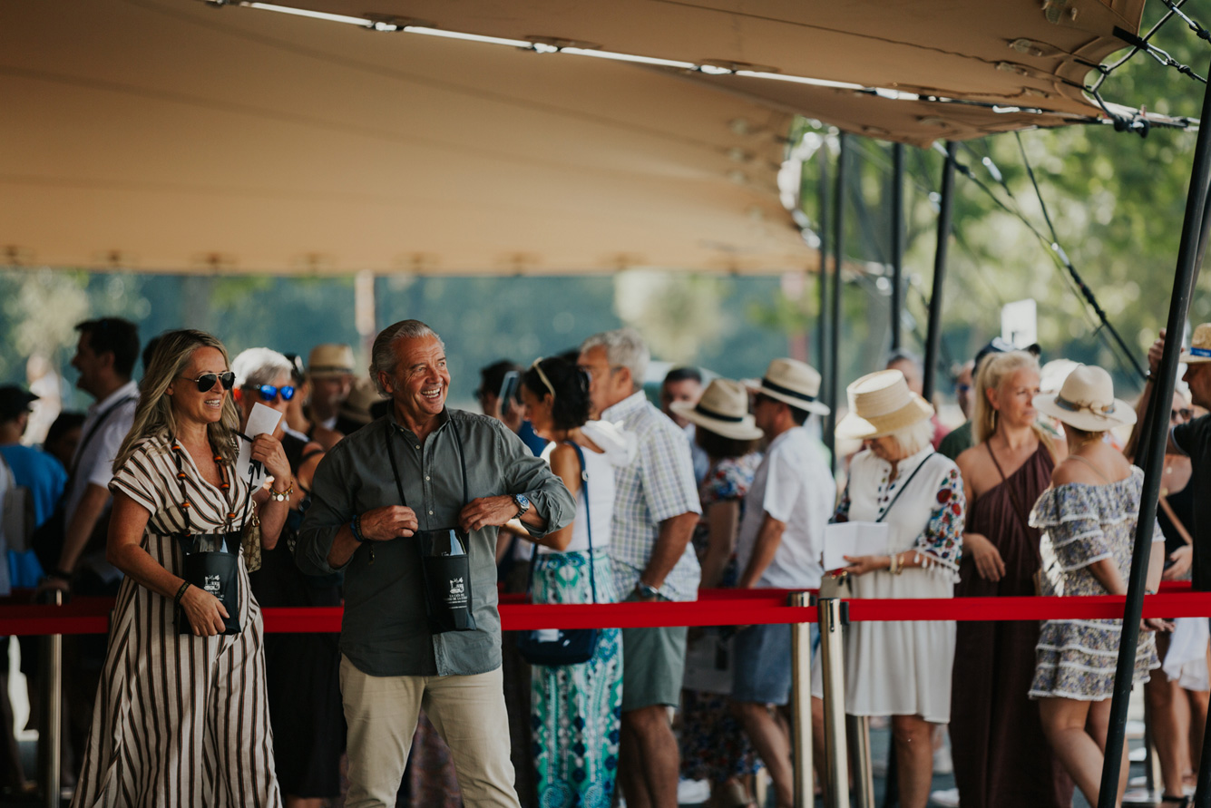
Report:
M172 397L167 395L168 385L184 372L199 348L213 348L223 354L225 363L229 362L223 343L205 331L170 331L160 337L151 355L151 366L139 382L139 406L134 411L134 423L122 441L114 468L126 463L134 453L134 446L143 439L177 435L177 418L172 412ZM240 416L233 396L228 395L223 402L222 418L218 423L207 425L206 431L219 457L233 464L236 459L235 436L239 428Z

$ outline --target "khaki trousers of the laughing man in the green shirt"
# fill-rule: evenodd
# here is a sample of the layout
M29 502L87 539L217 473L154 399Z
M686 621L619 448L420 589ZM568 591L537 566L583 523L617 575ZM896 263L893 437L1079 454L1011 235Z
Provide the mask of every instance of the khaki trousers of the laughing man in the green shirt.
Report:
M467 808L520 808L498 667L474 676L368 676L340 658L349 724L346 808L394 808L421 710L454 758Z

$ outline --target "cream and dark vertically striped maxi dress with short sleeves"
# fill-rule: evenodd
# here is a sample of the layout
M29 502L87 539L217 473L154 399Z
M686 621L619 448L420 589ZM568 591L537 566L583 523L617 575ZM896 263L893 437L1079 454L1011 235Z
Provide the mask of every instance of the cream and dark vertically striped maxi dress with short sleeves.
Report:
M142 546L180 574L180 545L171 534L184 531L185 520L171 447L167 436L145 439L109 485L151 514ZM193 531L223 531L224 492L182 454ZM230 468L225 474L234 476ZM231 502L242 505L247 481L234 480L231 489ZM231 510L239 531L242 508ZM122 581L73 808L281 807L260 607L242 558L239 568L242 631L233 636L178 635L172 598Z

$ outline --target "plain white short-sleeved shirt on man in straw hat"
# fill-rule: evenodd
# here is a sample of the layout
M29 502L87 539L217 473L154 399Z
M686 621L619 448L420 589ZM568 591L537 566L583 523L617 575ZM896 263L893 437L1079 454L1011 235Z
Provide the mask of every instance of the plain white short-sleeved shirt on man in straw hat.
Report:
M802 426L770 442L745 495L736 538L736 561L748 568L765 514L786 525L774 560L754 584L762 589L813 589L823 568L825 525L837 499L837 483L816 442Z

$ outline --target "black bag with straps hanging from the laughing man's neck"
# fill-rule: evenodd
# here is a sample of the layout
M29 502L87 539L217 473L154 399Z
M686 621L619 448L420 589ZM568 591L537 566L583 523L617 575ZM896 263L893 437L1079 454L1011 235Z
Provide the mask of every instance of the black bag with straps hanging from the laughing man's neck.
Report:
M454 446L458 448L459 464L463 468L463 504L470 502L466 494L466 457L463 454L463 439L458 426L450 422L454 430ZM386 434L386 455L391 460L391 474L395 487L400 492L400 504L408 506L403 497L403 480L395 462L395 447L391 439L395 429ZM475 615L471 613L471 551L470 537L458 527L446 527L436 531L417 531L413 537L420 548L421 580L425 584L425 612L429 618L429 630L434 634L447 631L475 631Z

